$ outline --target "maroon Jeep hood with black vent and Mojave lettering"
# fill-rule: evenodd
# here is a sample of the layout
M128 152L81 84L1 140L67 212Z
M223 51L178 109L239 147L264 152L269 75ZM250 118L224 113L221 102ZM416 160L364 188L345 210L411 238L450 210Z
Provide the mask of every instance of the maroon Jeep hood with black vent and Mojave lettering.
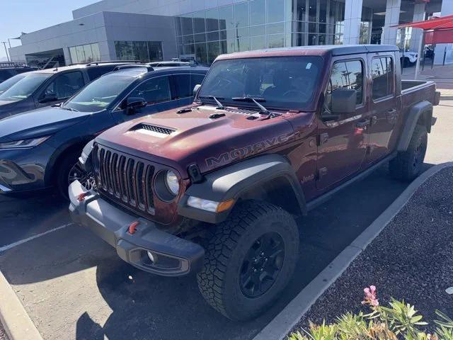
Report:
M224 116L210 118L213 113L224 113ZM294 138L286 115L290 113L251 120L246 113L200 106L187 113L172 110L131 120L103 132L96 142L166 164L187 178L190 164L197 164L205 173L286 144Z

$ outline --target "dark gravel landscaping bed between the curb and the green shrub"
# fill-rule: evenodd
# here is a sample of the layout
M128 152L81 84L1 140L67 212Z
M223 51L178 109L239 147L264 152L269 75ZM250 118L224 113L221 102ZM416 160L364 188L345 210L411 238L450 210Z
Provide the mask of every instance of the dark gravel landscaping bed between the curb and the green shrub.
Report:
M363 288L376 285L381 305L390 297L415 305L434 325L435 310L453 317L453 167L426 181L336 283L315 302L294 329L309 320L335 321L362 307ZM369 200L372 204L372 200Z

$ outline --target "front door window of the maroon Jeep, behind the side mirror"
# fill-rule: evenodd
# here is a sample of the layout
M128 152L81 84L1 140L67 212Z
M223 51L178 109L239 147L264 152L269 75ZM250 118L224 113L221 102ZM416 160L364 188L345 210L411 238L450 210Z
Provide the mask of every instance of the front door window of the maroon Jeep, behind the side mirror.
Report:
M357 105L363 103L363 64L360 60L336 62L333 64L331 79L326 92L326 106L331 109L332 92L338 89L357 91Z

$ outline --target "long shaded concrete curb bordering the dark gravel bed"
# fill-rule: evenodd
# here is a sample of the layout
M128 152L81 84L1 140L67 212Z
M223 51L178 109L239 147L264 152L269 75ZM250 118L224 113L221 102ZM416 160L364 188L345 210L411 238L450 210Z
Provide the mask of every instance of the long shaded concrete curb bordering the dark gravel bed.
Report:
M299 322L311 305L329 288L332 283L348 268L350 263L365 250L372 240L382 232L395 215L408 203L415 191L438 171L453 166L453 162L432 166L418 176L403 193L392 203L389 208L382 212L362 234L360 234L349 246L319 273L316 278L289 302L289 304L277 316L264 327L253 340L280 340L285 338L289 331Z

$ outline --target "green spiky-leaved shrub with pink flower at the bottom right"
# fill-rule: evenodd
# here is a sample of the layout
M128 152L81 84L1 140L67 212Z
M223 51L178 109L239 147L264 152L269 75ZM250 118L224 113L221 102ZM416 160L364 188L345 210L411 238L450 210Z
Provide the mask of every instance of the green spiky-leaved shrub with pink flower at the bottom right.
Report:
M439 310L435 332L427 334L420 328L428 323L412 305L393 298L389 307L379 305L374 285L365 288L364 293L362 305L369 306L369 314L344 314L333 324L310 322L309 329L292 333L287 340L453 340L453 320Z

